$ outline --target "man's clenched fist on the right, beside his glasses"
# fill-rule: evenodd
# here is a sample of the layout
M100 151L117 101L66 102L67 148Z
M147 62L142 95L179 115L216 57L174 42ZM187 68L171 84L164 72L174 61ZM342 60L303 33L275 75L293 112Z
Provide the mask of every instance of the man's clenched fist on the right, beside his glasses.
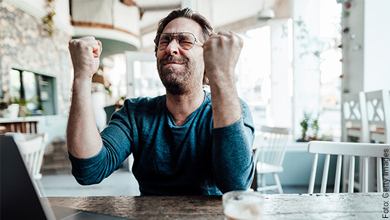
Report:
M243 44L243 39L232 31L212 34L203 44L205 74L210 80L210 85L214 83L226 85L226 82L229 85L234 82L234 68Z

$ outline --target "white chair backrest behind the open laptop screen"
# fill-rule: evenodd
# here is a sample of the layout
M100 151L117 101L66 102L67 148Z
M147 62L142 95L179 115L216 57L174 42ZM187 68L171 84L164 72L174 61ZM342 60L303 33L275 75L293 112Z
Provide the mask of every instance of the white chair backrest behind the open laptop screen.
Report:
M40 179L42 177L41 166L48 134L6 133L6 135L13 136L31 177Z

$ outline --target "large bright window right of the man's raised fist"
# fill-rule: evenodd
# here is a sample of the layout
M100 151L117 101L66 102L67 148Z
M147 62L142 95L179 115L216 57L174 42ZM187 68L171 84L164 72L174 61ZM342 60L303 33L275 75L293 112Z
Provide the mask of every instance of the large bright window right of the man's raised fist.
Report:
M340 139L341 8L333 1L319 2L319 15L273 20L240 34L244 47L236 67L236 86L240 98L250 105L257 128L289 127L298 139L303 113L308 112L313 126L307 135ZM312 20L319 24L306 27Z

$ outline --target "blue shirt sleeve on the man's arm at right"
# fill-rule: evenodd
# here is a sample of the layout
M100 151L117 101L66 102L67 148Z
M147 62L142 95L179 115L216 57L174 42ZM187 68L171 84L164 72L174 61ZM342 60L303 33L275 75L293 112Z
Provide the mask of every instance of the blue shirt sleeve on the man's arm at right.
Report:
M241 101L241 106L238 122L212 129L212 166L222 193L247 190L254 177L254 124L247 104Z

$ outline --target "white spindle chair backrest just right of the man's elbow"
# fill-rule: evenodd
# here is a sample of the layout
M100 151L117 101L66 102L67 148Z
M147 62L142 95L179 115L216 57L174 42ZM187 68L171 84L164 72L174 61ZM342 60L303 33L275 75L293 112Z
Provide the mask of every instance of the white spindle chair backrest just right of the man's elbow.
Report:
M282 166L290 138L289 129L261 126L260 130L261 135L257 137L260 140L256 141L259 146L254 154L255 161Z

